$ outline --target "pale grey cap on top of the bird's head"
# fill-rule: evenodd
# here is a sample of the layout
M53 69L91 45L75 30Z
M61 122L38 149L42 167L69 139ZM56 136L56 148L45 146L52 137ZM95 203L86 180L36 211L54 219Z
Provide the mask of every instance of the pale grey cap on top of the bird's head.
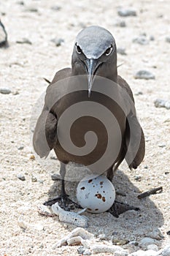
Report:
M111 45L114 48L115 39L101 26L89 26L80 31L76 43L88 59L98 59Z

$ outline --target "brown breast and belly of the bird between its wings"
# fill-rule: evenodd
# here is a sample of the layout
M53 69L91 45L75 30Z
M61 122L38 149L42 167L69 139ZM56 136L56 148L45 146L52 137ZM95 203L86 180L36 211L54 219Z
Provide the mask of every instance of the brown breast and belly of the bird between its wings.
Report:
M123 110L98 92L77 91L63 97L58 111L58 159L92 165L106 154L117 158L125 132ZM107 152L107 153L106 153Z

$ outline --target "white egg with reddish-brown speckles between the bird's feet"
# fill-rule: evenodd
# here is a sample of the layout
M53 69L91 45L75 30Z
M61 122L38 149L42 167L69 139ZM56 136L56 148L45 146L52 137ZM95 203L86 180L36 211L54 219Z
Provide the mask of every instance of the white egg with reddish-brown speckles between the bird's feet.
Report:
M109 210L115 201L115 188L104 176L88 176L77 186L77 200L82 208L91 213Z

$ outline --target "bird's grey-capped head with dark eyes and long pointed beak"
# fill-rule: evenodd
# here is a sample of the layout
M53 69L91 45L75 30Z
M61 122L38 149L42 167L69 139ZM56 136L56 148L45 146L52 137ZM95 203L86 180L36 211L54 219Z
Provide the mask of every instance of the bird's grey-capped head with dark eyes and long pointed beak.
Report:
M107 29L90 26L77 35L72 54L73 75L88 75L90 97L95 75L117 82L115 39Z

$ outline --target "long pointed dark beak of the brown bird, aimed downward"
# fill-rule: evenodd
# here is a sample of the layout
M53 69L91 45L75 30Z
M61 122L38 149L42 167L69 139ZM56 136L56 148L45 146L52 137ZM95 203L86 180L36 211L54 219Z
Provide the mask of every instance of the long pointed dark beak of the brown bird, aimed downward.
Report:
M93 86L93 80L94 80L94 75L96 73L96 70L98 69L98 66L101 64L98 59L86 59L85 60L85 66L87 68L87 73L88 73L88 97L90 97L91 94L91 89Z

